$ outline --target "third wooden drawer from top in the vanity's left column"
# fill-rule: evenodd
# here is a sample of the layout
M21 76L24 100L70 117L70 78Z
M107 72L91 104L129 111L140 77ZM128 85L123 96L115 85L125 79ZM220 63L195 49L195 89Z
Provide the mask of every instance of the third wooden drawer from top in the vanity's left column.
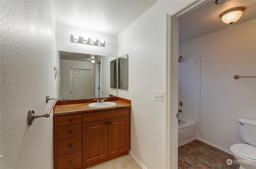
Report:
M58 140L58 157L82 150L82 136Z

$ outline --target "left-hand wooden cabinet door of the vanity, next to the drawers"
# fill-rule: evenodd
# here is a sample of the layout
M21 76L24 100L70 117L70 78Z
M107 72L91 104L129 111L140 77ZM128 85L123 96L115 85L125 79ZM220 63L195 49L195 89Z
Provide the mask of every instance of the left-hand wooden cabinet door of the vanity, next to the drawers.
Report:
M108 120L83 124L84 166L108 157Z

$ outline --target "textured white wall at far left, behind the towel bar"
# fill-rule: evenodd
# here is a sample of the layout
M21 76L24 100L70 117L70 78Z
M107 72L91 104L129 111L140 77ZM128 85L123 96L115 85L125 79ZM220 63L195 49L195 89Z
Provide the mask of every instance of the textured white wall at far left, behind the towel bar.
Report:
M55 20L51 1L1 1L2 169L53 168L52 113L28 126L28 109L44 114L56 97Z

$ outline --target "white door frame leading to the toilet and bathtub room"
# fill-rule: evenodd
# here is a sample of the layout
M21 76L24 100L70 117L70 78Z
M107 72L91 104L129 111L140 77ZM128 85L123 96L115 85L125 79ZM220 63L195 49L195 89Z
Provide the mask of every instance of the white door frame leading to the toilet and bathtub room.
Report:
M208 2L183 1L166 14L166 169L178 168L179 18Z

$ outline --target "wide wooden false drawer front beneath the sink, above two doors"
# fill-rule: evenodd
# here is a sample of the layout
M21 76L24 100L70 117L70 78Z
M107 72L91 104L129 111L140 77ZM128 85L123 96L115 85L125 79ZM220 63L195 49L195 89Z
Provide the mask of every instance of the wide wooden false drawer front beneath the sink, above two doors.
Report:
M99 112L83 113L83 123L96 122L112 118L120 118L129 116L129 108L120 108L114 110L104 110Z

